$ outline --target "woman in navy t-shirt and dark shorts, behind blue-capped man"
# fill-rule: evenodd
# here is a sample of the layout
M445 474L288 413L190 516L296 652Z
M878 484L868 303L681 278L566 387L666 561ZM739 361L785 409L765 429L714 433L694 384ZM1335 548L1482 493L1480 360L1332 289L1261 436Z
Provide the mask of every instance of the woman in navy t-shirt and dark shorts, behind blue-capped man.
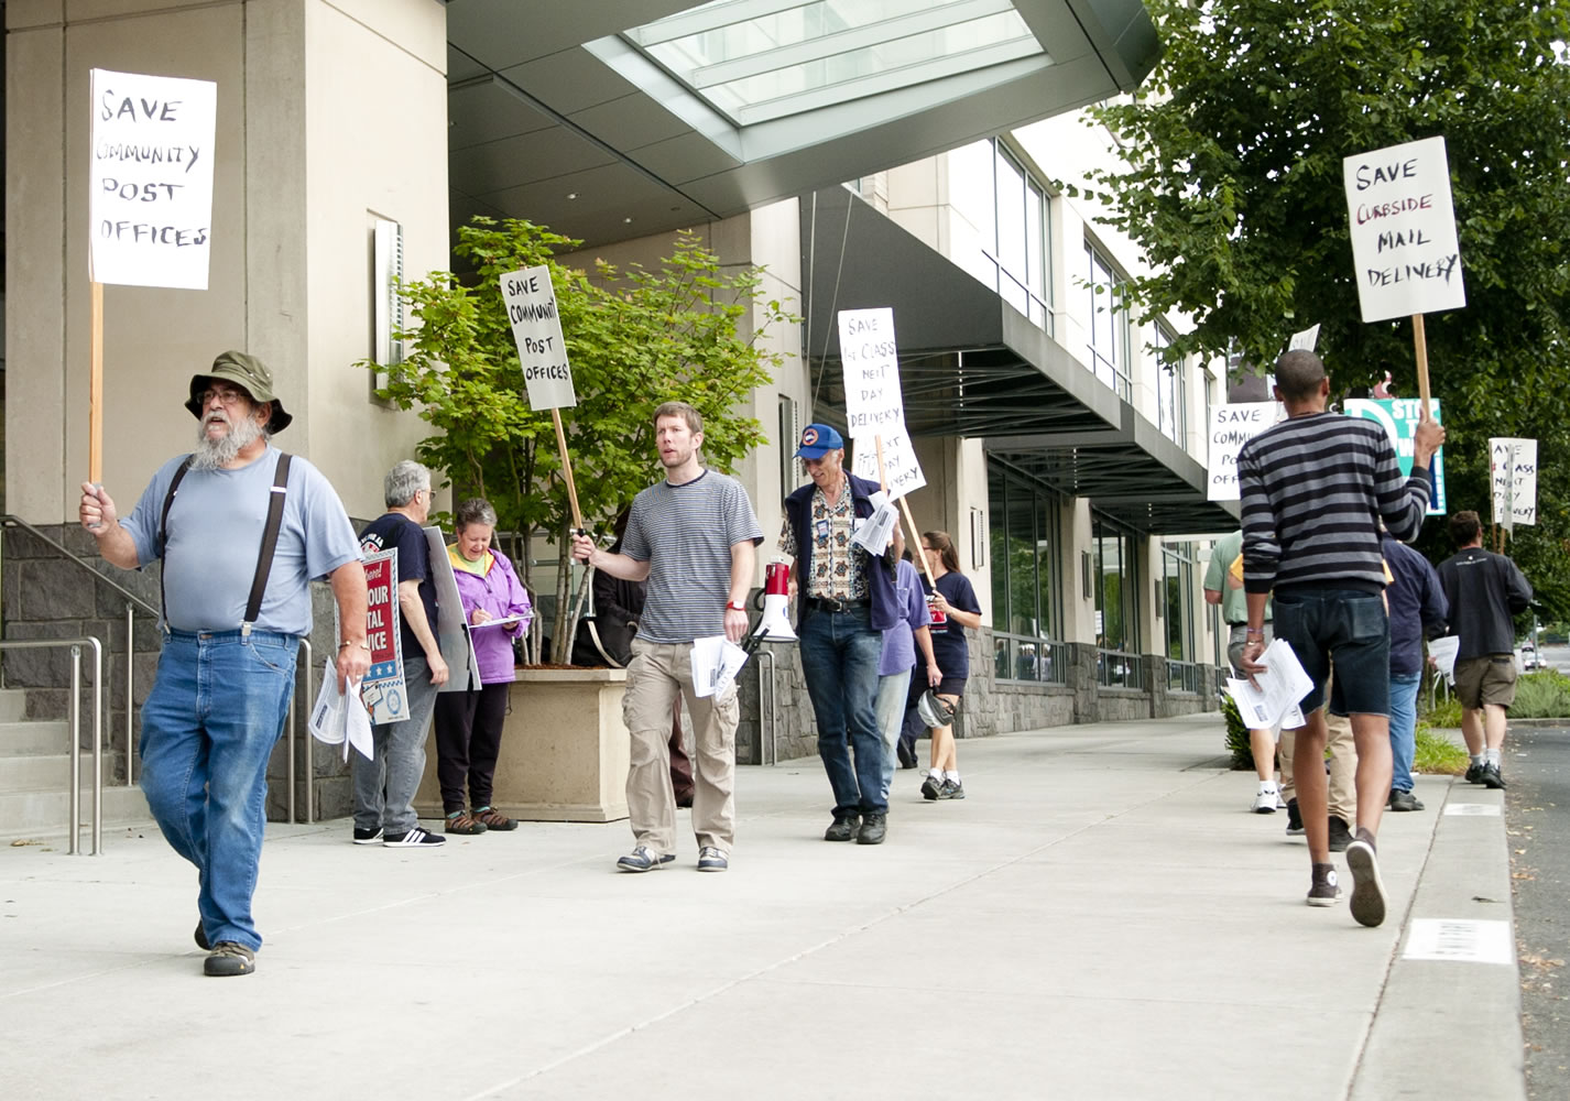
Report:
M966 694L970 677L970 653L966 646L966 630L981 627L981 605L977 602L970 578L959 572L959 551L947 531L923 531L922 554L926 556L926 572L933 578L926 603L933 614L933 657L944 679L934 693L940 707L926 716L933 730L933 768L922 781L922 796L926 799L962 799L966 788L959 782L959 760L955 752L953 716L959 697ZM926 587L923 578L922 586ZM912 677L914 685L926 682L925 663L922 675ZM931 719L937 719L933 722Z

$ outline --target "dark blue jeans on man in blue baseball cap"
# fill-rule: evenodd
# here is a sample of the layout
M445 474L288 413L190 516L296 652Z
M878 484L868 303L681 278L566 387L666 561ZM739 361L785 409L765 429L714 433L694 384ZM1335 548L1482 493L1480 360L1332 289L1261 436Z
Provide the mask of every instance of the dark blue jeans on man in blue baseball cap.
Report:
M881 658L882 631L871 628L867 608L807 613L801 625L801 668L818 716L818 755L834 788L835 818L889 810L876 713Z

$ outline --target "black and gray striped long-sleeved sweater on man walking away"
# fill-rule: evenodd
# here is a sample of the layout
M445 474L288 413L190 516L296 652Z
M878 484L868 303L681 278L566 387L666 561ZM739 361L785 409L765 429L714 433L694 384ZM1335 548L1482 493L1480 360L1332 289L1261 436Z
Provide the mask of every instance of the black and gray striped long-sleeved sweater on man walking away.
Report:
M1380 592L1378 520L1410 542L1429 510L1429 471L1404 477L1374 421L1311 413L1283 421L1237 455L1243 498L1243 589L1294 584Z

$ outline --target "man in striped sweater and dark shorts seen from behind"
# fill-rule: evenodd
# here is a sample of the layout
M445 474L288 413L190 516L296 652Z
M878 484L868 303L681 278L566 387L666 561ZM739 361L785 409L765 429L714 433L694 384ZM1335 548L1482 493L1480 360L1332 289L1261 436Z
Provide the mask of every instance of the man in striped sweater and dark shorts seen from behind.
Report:
M1287 419L1237 455L1243 503L1247 641L1239 664L1259 672L1265 598L1275 589L1275 635L1292 646L1314 686L1302 700L1292 771L1313 862L1311 906L1341 894L1330 862L1325 788L1325 680L1334 660L1330 710L1352 718L1358 749L1358 826L1347 845L1352 917L1385 920L1374 839L1389 795L1389 622L1378 521L1404 542L1429 509L1429 460L1444 429L1424 413L1413 438L1411 476L1402 477L1385 429L1327 413L1330 380L1313 352L1276 360L1276 399Z

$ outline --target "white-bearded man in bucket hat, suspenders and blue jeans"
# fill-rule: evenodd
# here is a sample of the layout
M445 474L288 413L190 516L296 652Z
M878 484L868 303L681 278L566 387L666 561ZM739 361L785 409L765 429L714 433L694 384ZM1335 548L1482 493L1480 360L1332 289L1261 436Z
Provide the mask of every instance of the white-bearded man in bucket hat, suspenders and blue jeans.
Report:
M193 375L196 451L166 462L124 520L82 485L82 526L105 561L162 561L163 652L141 705L141 790L163 837L196 865L196 944L209 975L248 975L267 818L267 760L311 633L312 578L333 587L339 688L371 664L366 573L338 493L272 446L294 419L253 355L225 352Z

